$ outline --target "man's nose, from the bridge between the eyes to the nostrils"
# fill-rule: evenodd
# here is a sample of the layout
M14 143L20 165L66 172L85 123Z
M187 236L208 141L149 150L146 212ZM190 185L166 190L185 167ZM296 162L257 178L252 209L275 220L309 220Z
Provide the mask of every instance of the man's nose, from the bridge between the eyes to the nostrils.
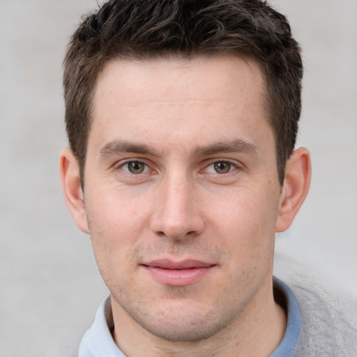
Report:
M151 215L151 231L158 236L182 240L204 230L197 190L183 177L167 177L160 183Z

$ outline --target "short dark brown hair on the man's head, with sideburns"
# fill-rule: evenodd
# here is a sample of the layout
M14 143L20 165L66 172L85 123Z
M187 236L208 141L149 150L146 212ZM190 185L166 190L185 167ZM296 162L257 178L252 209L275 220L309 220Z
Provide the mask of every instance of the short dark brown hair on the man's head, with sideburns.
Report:
M84 18L64 59L66 130L82 185L91 98L105 64L172 54L235 54L260 64L282 184L296 143L303 76L284 15L259 0L111 0Z

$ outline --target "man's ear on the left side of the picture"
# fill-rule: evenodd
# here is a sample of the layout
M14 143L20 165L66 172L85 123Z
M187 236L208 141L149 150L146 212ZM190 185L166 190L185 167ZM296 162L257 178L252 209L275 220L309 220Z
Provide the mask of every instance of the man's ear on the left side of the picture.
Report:
M68 148L63 149L59 154L59 172L68 210L79 229L82 229L84 233L89 233L77 159L73 151Z

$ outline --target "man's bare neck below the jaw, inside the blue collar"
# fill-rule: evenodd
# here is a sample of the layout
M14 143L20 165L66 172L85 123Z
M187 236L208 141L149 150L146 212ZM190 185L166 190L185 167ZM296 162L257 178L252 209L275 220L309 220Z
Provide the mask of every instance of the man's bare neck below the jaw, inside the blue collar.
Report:
M270 356L287 326L282 307L274 301L271 280L262 284L238 319L215 335L195 342L162 340L133 321L113 298L112 307L114 341L130 357Z

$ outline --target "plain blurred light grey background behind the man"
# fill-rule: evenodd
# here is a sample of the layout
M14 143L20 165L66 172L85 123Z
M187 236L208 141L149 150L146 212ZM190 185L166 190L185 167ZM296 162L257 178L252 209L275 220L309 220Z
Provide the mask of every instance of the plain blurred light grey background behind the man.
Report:
M357 298L357 1L275 0L303 46L310 195L277 274ZM107 289L63 202L61 61L91 0L0 0L0 357L70 356Z

